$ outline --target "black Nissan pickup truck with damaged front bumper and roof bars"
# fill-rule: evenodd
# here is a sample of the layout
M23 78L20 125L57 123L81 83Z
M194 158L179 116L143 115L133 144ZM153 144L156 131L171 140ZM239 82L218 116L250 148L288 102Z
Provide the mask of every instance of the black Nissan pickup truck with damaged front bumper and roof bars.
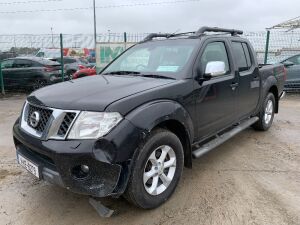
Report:
M76 193L161 205L192 158L278 112L284 66L259 66L239 34L150 34L97 76L33 92L13 127L18 162Z

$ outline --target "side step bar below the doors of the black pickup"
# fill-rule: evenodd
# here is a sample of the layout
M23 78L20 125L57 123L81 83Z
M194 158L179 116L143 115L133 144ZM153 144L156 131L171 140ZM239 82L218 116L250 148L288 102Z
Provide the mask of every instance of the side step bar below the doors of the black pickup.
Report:
M239 125L234 127L233 129L227 131L226 133L216 136L215 139L205 143L200 148L193 151L193 157L199 158L200 156L204 155L205 153L209 152L210 150L214 149L215 147L221 145L228 139L232 138L236 134L240 133L241 131L245 130L247 127L251 126L258 120L258 117L251 117L246 121L241 122Z

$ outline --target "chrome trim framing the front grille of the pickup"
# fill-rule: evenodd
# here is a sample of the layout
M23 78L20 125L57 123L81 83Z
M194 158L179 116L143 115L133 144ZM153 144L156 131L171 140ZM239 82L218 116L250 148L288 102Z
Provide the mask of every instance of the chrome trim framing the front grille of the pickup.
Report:
M28 118L28 110L30 106L34 106L41 109L47 109L52 110L52 114L47 122L47 125L43 132L40 132L27 123ZM70 123L66 133L64 135L59 135L58 131L60 129L61 124L64 121L64 118L67 113L75 113L73 121ZM28 101L25 102L23 111L22 111L22 117L21 117L21 129L24 130L26 133L37 137L39 139L48 140L48 139L54 139L54 140L64 140L68 136L71 127L73 126L74 122L76 121L80 111L77 110L62 110L62 109L55 109L40 105L35 105L32 103L29 103Z

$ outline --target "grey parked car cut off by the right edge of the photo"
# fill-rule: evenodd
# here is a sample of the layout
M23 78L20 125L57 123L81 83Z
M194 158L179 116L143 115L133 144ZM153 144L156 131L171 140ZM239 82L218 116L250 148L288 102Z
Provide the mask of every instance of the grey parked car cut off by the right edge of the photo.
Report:
M300 54L283 60L287 69L287 78L284 89L287 92L300 91Z

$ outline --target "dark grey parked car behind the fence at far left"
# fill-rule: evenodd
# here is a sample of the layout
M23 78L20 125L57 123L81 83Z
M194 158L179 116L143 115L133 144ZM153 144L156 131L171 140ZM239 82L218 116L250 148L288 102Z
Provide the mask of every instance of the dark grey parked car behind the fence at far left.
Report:
M38 57L17 57L1 63L5 88L36 90L62 80L57 62Z

